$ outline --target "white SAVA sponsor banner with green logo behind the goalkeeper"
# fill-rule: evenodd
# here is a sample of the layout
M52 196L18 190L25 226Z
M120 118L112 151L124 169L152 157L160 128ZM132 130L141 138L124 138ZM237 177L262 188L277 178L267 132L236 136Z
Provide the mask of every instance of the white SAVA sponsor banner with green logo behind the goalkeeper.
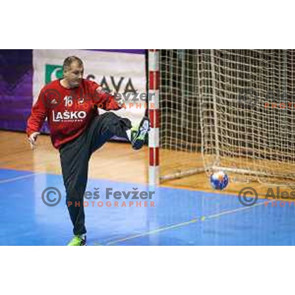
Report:
M33 101L42 87L62 77L62 62L67 56L77 56L84 62L84 78L100 83L103 88L122 94L126 109L116 112L137 124L144 116L146 103L131 101L129 94L146 92L144 50L33 50ZM130 53L131 52L131 53ZM103 110L99 110L103 113ZM47 126L42 130L48 132Z

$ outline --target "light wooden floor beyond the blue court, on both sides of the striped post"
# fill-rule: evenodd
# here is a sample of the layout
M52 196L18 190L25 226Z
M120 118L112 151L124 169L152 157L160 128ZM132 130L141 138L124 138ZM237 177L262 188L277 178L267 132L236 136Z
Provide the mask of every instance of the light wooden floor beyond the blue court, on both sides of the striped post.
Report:
M0 131L0 168L61 174L59 152L48 135L40 135L37 150L32 151L27 137L22 132ZM162 161L168 157L162 154ZM161 156L160 154L160 156ZM171 155L169 155L170 157ZM181 156L183 158L183 155ZM177 152L177 157L181 158ZM173 161L170 161L173 164ZM191 156L190 164L193 162ZM200 165L200 162L198 162ZM168 165L169 166L169 165ZM168 169L167 163L165 169ZM105 178L114 181L148 183L148 147L135 151L128 143L110 142L96 151L90 160L89 177ZM213 192L205 173L166 181L163 186ZM222 193L236 195L245 186L254 187L264 196L269 186L260 183L230 183ZM290 188L282 188L291 191Z

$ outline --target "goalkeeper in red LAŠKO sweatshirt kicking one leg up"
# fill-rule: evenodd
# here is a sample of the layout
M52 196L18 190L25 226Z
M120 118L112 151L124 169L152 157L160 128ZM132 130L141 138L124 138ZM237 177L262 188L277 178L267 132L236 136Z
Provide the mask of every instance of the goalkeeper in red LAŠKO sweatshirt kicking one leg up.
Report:
M27 127L29 143L34 149L39 130L45 118L48 119L51 141L60 154L66 204L74 227L74 237L68 245L73 246L86 245L83 198L91 154L113 136L125 137L134 149L140 149L149 130L146 117L134 130L127 118L113 112L99 115L98 108L119 110L121 103L97 83L83 79L83 73L82 60L67 57L63 62L63 78L41 89ZM81 206L76 207L75 202Z

